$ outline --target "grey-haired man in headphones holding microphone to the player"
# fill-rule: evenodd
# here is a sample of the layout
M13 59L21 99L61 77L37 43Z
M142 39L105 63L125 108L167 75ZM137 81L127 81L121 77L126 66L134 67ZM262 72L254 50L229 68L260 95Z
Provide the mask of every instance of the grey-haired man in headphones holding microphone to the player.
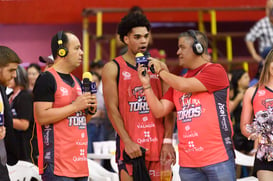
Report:
M150 77L138 68L149 107L156 117L176 108L181 180L236 180L229 115L229 80L220 64L208 62L206 35L189 30L178 39L179 65L188 68L184 77L168 71L166 64L150 58L160 78L170 85L160 100L150 88Z

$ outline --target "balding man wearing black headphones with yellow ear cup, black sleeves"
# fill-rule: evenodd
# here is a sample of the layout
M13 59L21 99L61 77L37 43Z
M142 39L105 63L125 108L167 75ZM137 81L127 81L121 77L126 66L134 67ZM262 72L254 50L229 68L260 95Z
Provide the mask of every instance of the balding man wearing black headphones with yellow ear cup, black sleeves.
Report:
M51 40L51 51L54 65L33 89L39 172L44 181L87 181L86 120L96 110L96 96L82 93L79 79L71 74L83 60L79 39L60 31Z

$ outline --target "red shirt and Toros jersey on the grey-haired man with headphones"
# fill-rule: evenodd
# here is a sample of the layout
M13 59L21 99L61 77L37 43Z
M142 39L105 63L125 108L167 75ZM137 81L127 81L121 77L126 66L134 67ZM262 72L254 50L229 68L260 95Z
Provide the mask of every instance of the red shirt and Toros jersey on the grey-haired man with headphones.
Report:
M187 93L170 88L163 97L172 101L177 111L180 166L203 167L228 160L233 130L224 68L208 63L185 77L196 77L208 91Z

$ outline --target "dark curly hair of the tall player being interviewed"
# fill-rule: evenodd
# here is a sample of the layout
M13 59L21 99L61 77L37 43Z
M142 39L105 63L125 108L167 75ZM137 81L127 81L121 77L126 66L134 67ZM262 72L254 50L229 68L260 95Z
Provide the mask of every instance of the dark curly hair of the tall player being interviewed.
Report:
M151 24L144 14L129 13L121 19L118 25L118 34L120 40L124 43L124 36L126 36L135 27L146 27L148 31L151 30Z

